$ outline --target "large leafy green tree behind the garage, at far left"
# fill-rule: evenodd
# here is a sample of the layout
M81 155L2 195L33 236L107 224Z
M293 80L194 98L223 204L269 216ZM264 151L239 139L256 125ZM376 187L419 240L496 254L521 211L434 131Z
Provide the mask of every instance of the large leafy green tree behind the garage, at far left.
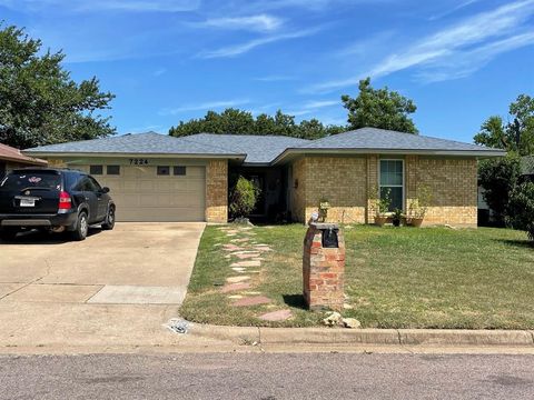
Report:
M65 54L42 52L42 42L0 22L0 142L29 148L115 133L115 98L96 78L76 83L61 67Z

